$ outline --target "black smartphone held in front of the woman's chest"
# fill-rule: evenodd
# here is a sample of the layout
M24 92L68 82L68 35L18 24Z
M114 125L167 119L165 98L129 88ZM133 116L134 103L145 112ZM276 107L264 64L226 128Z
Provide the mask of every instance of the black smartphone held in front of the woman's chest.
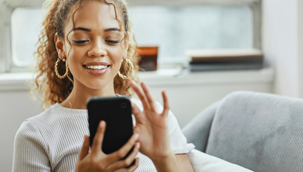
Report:
M88 100L90 145L99 122L106 122L102 151L110 154L122 147L133 135L131 100L128 97L94 97ZM126 158L131 152L124 157ZM123 158L123 159L124 159Z

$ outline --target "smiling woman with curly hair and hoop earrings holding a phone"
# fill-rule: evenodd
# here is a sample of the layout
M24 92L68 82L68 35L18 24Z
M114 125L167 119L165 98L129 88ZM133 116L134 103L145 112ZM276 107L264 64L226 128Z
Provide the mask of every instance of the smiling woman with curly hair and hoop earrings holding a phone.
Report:
M44 106L51 106L20 126L13 171L192 171L187 153L194 146L169 111L166 93L162 107L144 82L132 81L138 59L123 0L56 0L44 27L36 85ZM132 99L134 135L105 155L101 121L90 150L86 100L131 95L130 88L140 98Z

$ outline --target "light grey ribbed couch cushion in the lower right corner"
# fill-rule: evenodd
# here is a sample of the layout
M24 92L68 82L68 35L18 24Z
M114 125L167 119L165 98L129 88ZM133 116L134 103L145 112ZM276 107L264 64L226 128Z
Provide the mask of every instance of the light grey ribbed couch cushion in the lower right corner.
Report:
M301 171L303 100L231 93L218 106L206 153L254 171Z

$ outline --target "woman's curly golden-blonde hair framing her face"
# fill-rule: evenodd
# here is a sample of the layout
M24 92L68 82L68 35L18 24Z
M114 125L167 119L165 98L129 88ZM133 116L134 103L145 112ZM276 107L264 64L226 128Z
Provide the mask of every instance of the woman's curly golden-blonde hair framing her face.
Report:
M37 42L38 48L35 53L37 60L37 66L34 69L36 76L34 80L35 83L34 88L30 91L30 95L31 97L37 96L42 98L40 101L42 101L41 105L43 109L47 109L47 107L52 104L61 103L72 93L74 84L73 75L71 72L69 71L68 77L63 79L58 78L55 73L55 63L58 59L58 53L55 47L54 37L56 33L58 33L58 36L60 38L63 38L64 35L68 37L74 27L68 34L64 34L64 26L66 25L69 18L72 19L74 25L74 15L84 1L89 0L52 1L50 3L50 10L47 13L46 18L42 24L42 31ZM122 79L117 75L114 78L114 89L116 94L132 96L129 82L131 80L138 81L137 72L139 69L139 57L136 54L137 42L132 32L132 25L128 20L126 2L124 0L110 0L111 3L107 2L106 0L99 1L105 3L106 5L112 5L114 7L116 19L118 20L120 28L124 33L123 39L126 39L129 36L127 58L133 62L134 74L129 75L132 73L132 70L129 68L126 60L123 60L120 68L120 73L129 77L127 79ZM117 7L119 11L117 10ZM122 12L123 21L118 18L119 12ZM124 26L124 29L122 29L122 26ZM67 65L67 60L65 62L60 62L57 69L60 75L66 73ZM34 96L34 93L37 93L37 95Z

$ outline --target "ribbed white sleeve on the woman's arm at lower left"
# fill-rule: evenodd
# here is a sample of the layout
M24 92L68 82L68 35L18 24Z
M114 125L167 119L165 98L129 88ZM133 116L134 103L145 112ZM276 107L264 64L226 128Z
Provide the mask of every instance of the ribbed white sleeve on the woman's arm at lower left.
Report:
M12 171L51 171L47 150L38 128L23 122L15 136Z

